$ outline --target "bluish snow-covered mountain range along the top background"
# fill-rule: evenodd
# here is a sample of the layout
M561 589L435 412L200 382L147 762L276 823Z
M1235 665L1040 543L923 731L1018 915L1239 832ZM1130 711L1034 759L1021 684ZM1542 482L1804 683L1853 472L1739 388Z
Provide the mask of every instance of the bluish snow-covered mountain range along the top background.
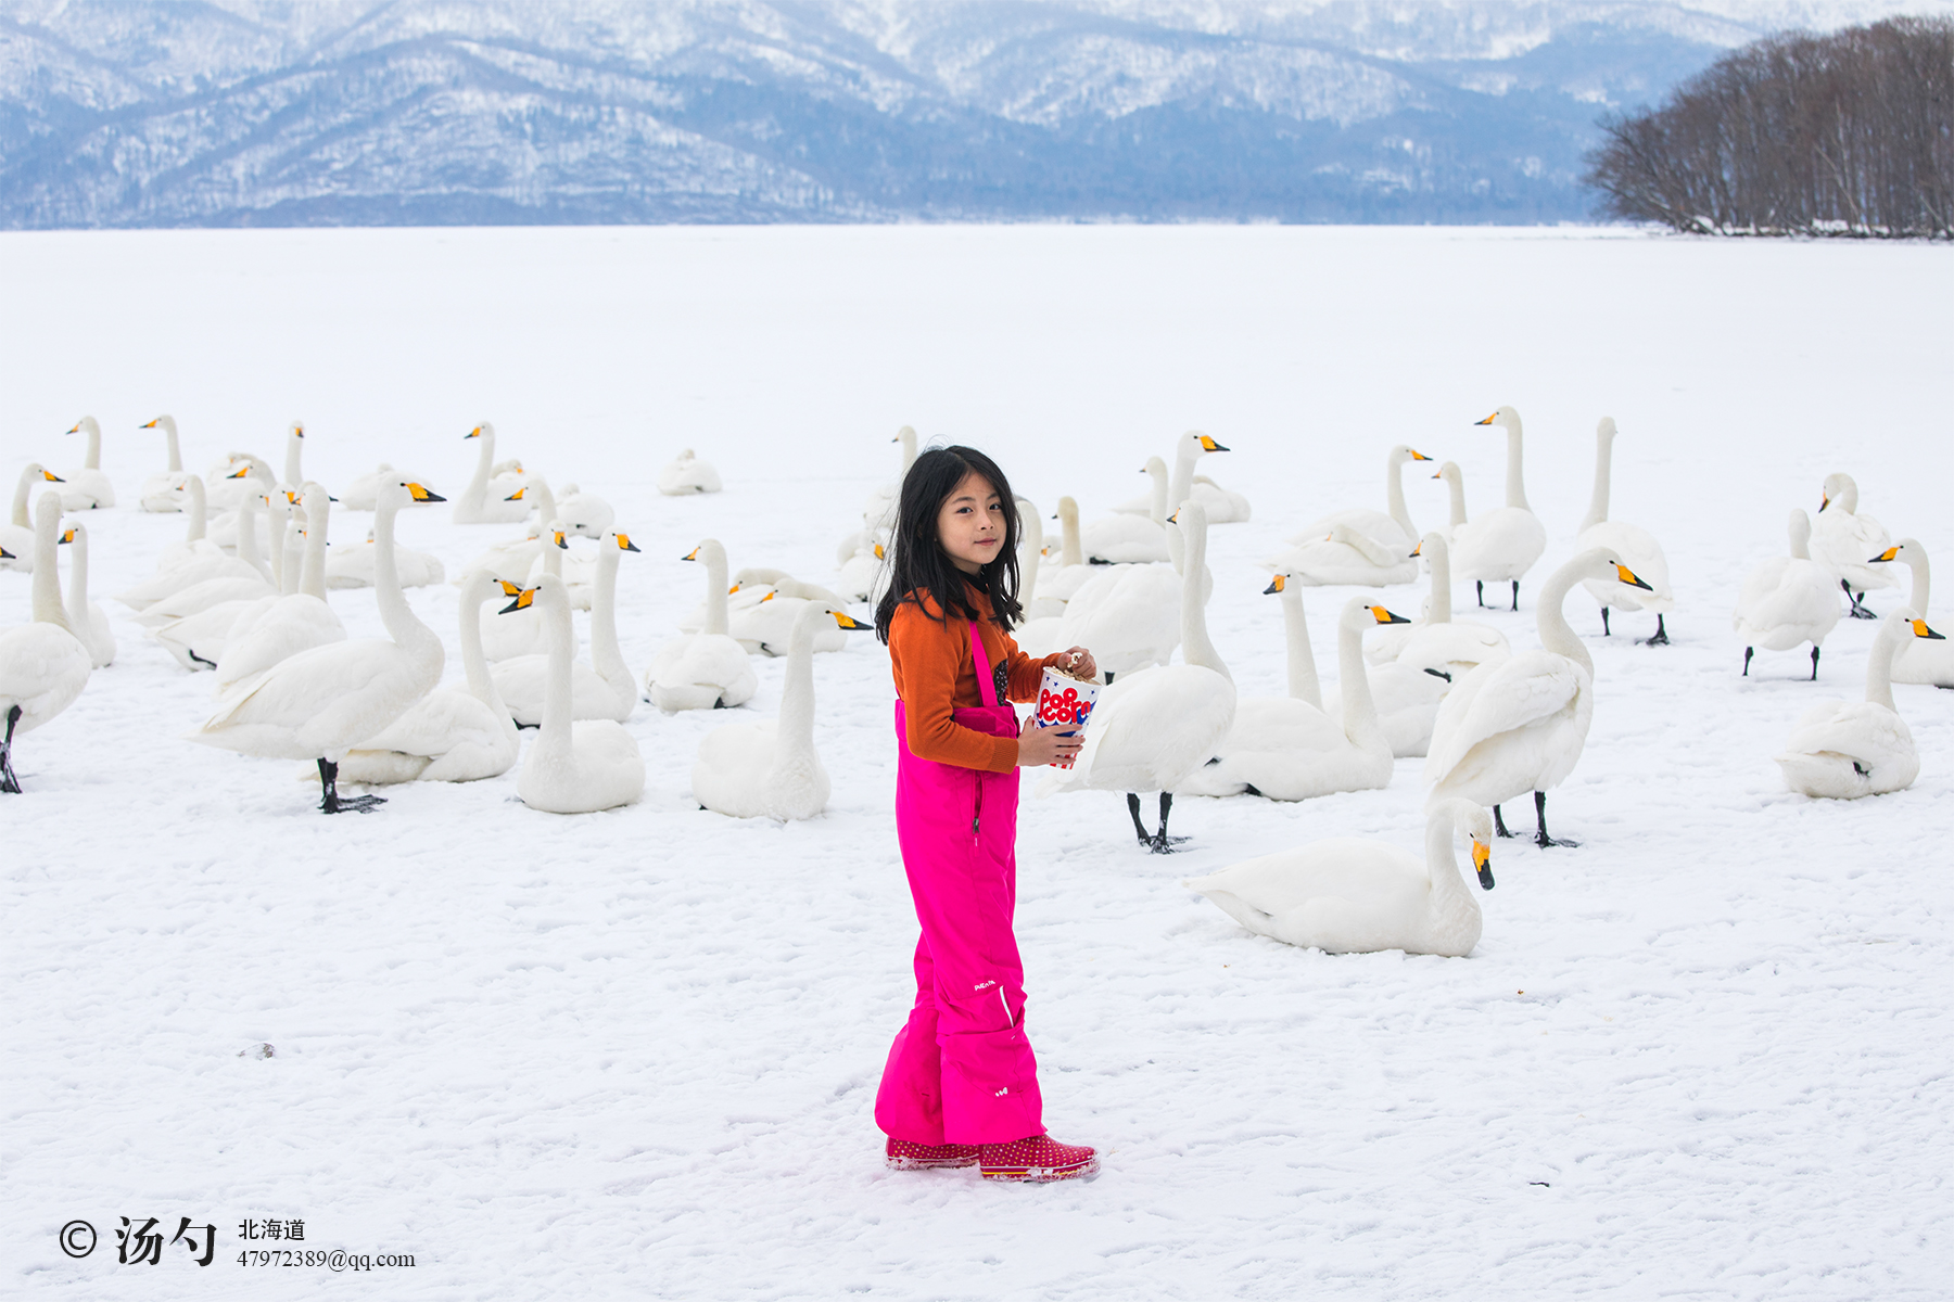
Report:
M1577 219L1786 14L0 0L0 226Z

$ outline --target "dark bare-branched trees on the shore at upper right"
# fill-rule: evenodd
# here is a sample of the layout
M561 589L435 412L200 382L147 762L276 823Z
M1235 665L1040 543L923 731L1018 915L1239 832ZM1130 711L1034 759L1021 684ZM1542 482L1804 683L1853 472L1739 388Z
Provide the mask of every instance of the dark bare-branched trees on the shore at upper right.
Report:
M1604 119L1587 182L1716 234L1954 236L1954 20L1784 33Z

